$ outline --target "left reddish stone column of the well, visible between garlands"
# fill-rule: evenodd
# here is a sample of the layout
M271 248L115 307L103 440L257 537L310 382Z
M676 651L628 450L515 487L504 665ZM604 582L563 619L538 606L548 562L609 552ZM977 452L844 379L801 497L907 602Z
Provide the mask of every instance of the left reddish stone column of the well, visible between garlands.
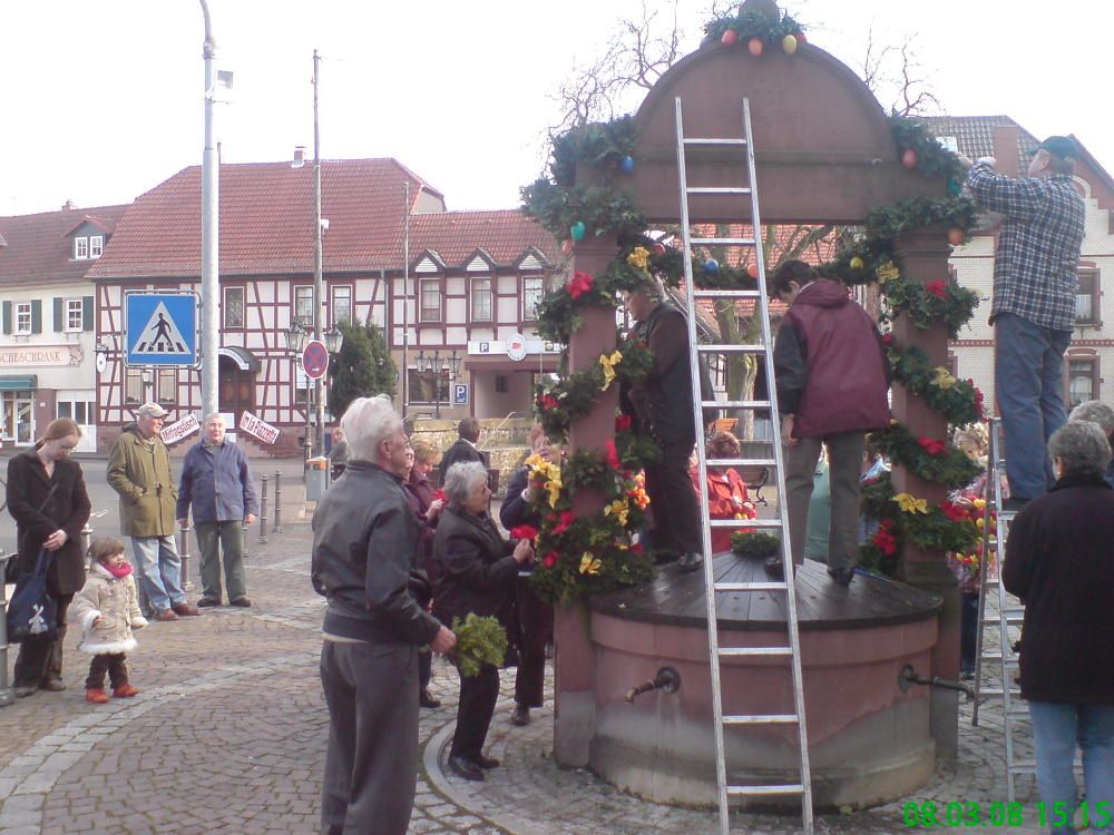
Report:
M576 246L574 269L599 275L618 252L614 235L582 240ZM584 311L584 324L573 334L569 371L584 371L599 361L599 355L615 348L615 311L593 307ZM599 450L615 436L615 409L618 386L600 392L592 412L573 424L571 450ZM603 495L579 490L574 512L594 513L603 508ZM555 610L554 655L554 756L563 766L588 764L596 720L596 666L592 647L587 605L558 606Z

